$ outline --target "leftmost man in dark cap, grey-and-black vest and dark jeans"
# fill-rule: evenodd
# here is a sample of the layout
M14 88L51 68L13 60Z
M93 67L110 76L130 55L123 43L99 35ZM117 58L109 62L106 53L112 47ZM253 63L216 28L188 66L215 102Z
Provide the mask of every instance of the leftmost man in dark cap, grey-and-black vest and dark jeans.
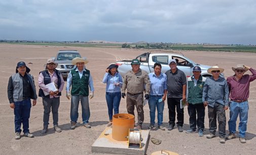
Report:
M9 78L8 83L8 99L10 107L14 109L14 123L15 123L15 139L20 139L21 124L23 125L23 133L25 137L34 137L29 133L29 117L31 101L33 99L33 106L36 104L36 91L34 86L34 79L29 74L30 69L25 62L18 62L16 73Z

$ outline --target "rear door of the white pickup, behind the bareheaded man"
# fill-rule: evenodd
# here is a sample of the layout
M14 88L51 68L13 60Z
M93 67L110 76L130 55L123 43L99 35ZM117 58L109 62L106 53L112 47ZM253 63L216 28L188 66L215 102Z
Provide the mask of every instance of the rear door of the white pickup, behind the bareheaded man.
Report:
M152 60L149 60L151 72L154 72L154 64L160 63L162 65L162 73L165 73L167 70L170 69L168 65L169 56L168 55L154 55L152 56ZM153 63L151 63L153 61Z

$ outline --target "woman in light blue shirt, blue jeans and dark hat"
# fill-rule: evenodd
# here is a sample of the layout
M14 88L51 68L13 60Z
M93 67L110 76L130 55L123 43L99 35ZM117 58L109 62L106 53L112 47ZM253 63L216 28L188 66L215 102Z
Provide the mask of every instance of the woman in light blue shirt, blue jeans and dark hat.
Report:
M106 103L108 109L109 124L112 125L113 109L114 114L119 113L119 104L121 100L121 88L123 79L117 70L118 65L110 64L106 68L106 73L102 83L106 84Z

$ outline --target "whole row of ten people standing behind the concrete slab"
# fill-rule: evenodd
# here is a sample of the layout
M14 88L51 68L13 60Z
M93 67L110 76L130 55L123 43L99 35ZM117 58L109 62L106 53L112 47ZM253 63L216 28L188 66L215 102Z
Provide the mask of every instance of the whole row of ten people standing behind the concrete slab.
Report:
M79 102L82 105L83 124L86 128L91 128L89 125L89 99L94 96L94 87L90 71L85 68L88 60L74 58L72 63L77 65L77 68L71 69L69 72L66 86L66 98L71 98L70 128L76 128ZM46 134L48 131L51 110L54 130L61 132L61 129L58 127L58 108L64 80L60 72L55 69L56 65L53 59L48 59L46 69L41 71L39 75L39 96L43 98L44 105L42 134ZM220 143L225 143L225 110L230 107L230 120L228 121L230 133L226 139L236 138L236 121L239 115L239 139L241 143L245 143L249 85L250 82L256 79L256 70L245 65L237 65L237 67L232 67L235 74L225 80L220 76L224 69L213 66L207 70L212 76L206 79L201 75L200 66L195 66L193 68L193 76L187 81L185 73L177 68L176 60L171 59L169 66L170 70L162 73L161 64L155 63L154 72L148 74L140 69L139 60L133 59L131 62L132 69L123 79L118 72L118 65L109 65L105 70L106 73L102 80L102 83L106 83L105 98L109 117L108 126L112 125L113 110L114 114L119 113L121 97L126 97L127 112L134 115L135 107L137 110L136 129L142 128L144 121L143 102L144 99L147 99L149 100L150 108L150 126L148 128L154 128L157 110L158 128L165 130L163 127L163 110L164 101L167 97L169 110L168 130L174 129L177 112L177 128L179 132L183 132L184 108L180 107L180 100L185 100L187 101L190 116L190 129L186 133L196 133L197 127L198 135L203 136L205 107L208 106L210 134L206 137L209 139L215 137L217 119ZM250 70L252 75L244 74L247 70ZM24 135L33 137L29 133L28 119L31 108L30 99L33 99L33 105L35 105L37 96L33 76L29 74L29 71L30 69L24 62L18 62L16 73L10 77L8 83L10 107L14 108L15 114L15 139L20 139L21 137L21 124L23 124ZM57 91L49 90L46 85L50 83L55 83Z

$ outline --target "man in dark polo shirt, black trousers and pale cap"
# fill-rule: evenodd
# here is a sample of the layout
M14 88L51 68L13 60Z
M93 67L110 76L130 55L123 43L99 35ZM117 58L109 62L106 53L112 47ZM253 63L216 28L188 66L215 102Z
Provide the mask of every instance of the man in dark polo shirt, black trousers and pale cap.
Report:
M177 68L176 60L169 62L170 69L165 72L167 76L167 104L169 109L169 127L172 130L175 125L175 109L177 111L177 127L183 132L184 109L180 108L180 100L186 100L187 78L183 71Z

